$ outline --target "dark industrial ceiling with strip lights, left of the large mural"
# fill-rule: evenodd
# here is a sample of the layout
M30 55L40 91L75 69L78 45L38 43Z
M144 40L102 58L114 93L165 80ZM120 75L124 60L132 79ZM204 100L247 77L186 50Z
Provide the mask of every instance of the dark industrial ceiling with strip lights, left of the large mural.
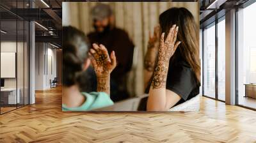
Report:
M61 46L61 3L62 0L1 0L1 29L7 32L1 33L1 38L16 40L16 37L23 37L28 30L25 28L24 31L24 21L32 20L36 22L36 41Z

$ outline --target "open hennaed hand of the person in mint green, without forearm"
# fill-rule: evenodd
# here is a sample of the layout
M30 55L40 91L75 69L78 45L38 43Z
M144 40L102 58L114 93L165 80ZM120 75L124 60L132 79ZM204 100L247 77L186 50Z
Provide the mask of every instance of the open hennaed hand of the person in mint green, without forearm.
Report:
M93 43L93 49L90 49L90 56L92 56L92 65L97 77L106 77L116 67L115 52L112 51L109 57L108 50L102 44L97 45Z

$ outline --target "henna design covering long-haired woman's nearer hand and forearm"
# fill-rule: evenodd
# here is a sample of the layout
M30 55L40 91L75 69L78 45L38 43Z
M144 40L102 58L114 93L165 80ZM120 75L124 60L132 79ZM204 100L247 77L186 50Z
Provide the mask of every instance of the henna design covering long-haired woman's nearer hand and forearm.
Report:
M157 65L153 73L152 87L166 87L166 79L169 68L170 58L173 56L180 41L177 41L178 28L175 25L170 29L166 40L164 41L164 33L161 35L160 47L158 49Z

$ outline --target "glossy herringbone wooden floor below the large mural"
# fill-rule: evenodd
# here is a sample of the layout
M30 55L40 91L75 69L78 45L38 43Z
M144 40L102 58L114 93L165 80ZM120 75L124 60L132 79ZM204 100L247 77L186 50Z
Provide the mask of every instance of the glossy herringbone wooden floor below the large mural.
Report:
M200 112L61 112L61 89L0 116L0 142L256 142L256 112L201 98Z

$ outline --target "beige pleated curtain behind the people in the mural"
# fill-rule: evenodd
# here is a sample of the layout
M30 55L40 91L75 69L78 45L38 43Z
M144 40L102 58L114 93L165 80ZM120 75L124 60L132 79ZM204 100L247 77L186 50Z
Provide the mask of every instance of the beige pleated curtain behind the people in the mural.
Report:
M63 26L74 26L89 33L93 31L90 10L98 2L63 3ZM143 94L143 57L147 50L148 33L153 33L159 15L172 7L187 8L199 25L198 2L104 2L115 13L115 25L127 31L136 45L138 62L131 72L129 91L136 96ZM198 47L199 48L199 47Z

